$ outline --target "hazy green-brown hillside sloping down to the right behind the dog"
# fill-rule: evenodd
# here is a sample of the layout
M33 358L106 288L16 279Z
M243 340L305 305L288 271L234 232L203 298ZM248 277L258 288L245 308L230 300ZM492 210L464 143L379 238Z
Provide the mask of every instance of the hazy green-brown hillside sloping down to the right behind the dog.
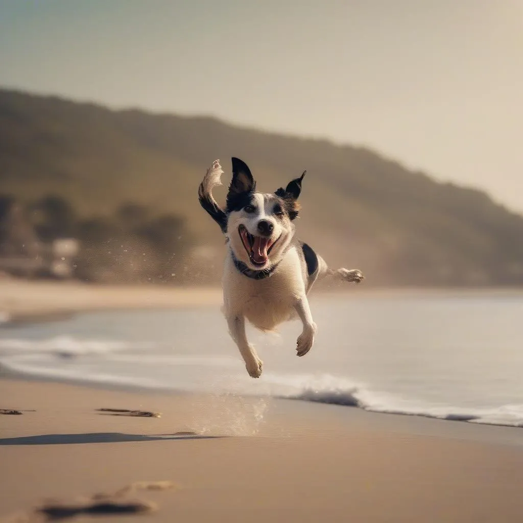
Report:
M84 221L128 202L179 215L186 243L215 246L217 266L223 238L197 188L215 158L228 182L231 156L263 191L306 169L299 236L368 285L523 283L523 217L479 190L349 145L0 90L0 193L28 206L61 196Z

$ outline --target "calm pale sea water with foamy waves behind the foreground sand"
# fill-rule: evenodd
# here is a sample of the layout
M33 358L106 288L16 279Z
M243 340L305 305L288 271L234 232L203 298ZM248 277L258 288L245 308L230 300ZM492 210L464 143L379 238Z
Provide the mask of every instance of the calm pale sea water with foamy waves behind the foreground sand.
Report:
M248 377L218 308L79 314L0 328L0 365L35 376L142 388L287 397L369 411L523 427L523 295L354 294L311 300L299 322L252 328Z

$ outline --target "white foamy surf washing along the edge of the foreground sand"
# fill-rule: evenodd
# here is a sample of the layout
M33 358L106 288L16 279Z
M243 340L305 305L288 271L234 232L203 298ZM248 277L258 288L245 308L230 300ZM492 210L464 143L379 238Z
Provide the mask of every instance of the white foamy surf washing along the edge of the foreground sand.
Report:
M124 384L144 388L178 388L209 392L279 397L305 402L325 403L362 408L390 414L425 416L471 423L523 427L523 404L506 404L489 408L434 404L402 397L386 391L372 390L365 383L332 374L278 374L266 372L260 380L246 375L237 358L211 354L158 354L151 344L108 339L82 339L56 336L48 339L0 339L0 362L14 371L56 379ZM133 351L132 354L126 351ZM64 359L64 356L66 358ZM88 356L98 365L82 365L79 358ZM78 358L76 358L78 357ZM63 361L62 361L63 360ZM104 370L112 364L113 371ZM125 364L127 376L118 374L118 365ZM145 366L149 368L146 372ZM169 367L168 376L159 376ZM179 368L179 369L178 369ZM213 368L221 369L214 373ZM175 370L183 380L170 379ZM206 381L202 376L216 376ZM173 374L174 375L174 374Z

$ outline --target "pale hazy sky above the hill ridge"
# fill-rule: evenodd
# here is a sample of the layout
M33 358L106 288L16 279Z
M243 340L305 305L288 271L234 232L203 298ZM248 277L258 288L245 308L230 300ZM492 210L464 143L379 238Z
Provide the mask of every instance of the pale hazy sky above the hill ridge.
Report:
M523 0L0 0L0 86L364 144L523 211Z

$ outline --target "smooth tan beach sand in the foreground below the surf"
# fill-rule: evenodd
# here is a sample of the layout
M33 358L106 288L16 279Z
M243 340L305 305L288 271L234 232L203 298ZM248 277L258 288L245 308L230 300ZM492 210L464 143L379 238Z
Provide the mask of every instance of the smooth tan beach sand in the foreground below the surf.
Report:
M13 378L0 380L0 408L22 412L0 415L0 516L10 520L38 520L46 498L55 509L144 510L96 519L122 522L503 523L523 514L521 429Z

